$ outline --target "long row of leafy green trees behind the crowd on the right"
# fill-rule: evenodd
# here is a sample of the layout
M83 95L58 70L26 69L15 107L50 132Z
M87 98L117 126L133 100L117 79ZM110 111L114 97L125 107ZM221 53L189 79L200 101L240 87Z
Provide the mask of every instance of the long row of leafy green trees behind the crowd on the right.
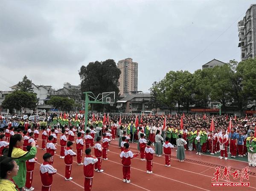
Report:
M150 88L155 103L166 105L170 111L173 105L189 105L207 108L209 102L220 102L227 106L237 106L241 111L256 100L256 59L240 63L229 63L189 71L169 71L163 80L154 82Z

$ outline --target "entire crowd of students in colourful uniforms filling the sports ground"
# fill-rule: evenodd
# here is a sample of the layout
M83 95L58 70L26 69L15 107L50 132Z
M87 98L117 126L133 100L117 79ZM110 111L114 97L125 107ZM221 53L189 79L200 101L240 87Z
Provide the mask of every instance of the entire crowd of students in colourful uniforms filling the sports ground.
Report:
M210 152L214 155L221 153L220 159L226 159L230 151L231 157L248 156L248 165L256 166L256 117L232 117L228 120L225 116L206 115L168 115L168 116L112 116L96 117L91 115L88 124L84 127L83 119L77 115L70 115L64 119L67 123L61 123L63 117L53 117L55 126L48 125L24 125L23 129L16 129L11 123L5 127L5 134L0 135L1 166L8 163L6 172L1 171L0 186L12 181L17 188L32 191L32 177L37 151L37 142L41 134L41 149L46 150L44 163L40 167L42 191L49 191L52 185L52 175L57 172L53 167L54 155L57 149L57 137L60 135L60 158L64 158L65 180L72 180L71 171L73 157L77 158L77 164L84 166L84 190L91 190L93 172L103 172L102 159L108 160L107 151L111 140L119 136L120 157L122 158L123 182L131 182L131 159L139 156L140 160L146 161L146 172L153 173L152 161L154 154L157 157L165 155L165 165L169 167L172 148L176 148L177 158L184 162L185 150L196 151L201 155ZM56 118L56 119L55 119ZM78 121L79 120L79 121ZM214 120L213 131L210 125ZM122 123L123 122L123 123ZM229 129L230 128L230 129ZM22 131L23 130L23 131ZM75 141L76 137L76 141ZM129 143L137 142L139 153L133 154L129 150ZM76 151L73 144L76 143ZM85 147L85 150L84 150ZM11 149L10 149L11 148ZM91 155L94 148L94 155ZM82 162L83 151L85 152ZM8 157L12 157L12 161ZM16 162L16 163L15 163ZM20 170L15 175L15 165ZM3 168L5 169L5 168ZM13 171L13 173L12 173ZM25 172L24 172L25 171ZM10 174L10 175L9 175ZM13 177L12 177L13 176ZM2 184L3 183L3 184ZM1 187L0 187L1 188Z

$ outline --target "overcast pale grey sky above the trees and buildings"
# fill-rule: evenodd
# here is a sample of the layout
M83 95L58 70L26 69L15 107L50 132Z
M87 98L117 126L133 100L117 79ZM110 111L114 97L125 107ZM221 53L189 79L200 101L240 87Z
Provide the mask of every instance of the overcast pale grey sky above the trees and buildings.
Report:
M255 0L0 0L0 90L26 74L58 89L96 60L139 63L138 90L170 70L240 61L237 22ZM203 52L202 52L203 51Z

